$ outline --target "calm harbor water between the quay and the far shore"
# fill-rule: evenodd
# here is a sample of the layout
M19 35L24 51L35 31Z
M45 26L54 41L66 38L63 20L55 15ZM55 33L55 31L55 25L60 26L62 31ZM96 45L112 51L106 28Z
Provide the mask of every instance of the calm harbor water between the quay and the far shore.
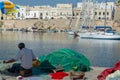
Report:
M74 38L67 33L0 32L0 60L13 58L18 53L18 43L24 42L36 56L54 50L69 48L85 55L91 66L113 67L120 60L119 40L92 40Z

